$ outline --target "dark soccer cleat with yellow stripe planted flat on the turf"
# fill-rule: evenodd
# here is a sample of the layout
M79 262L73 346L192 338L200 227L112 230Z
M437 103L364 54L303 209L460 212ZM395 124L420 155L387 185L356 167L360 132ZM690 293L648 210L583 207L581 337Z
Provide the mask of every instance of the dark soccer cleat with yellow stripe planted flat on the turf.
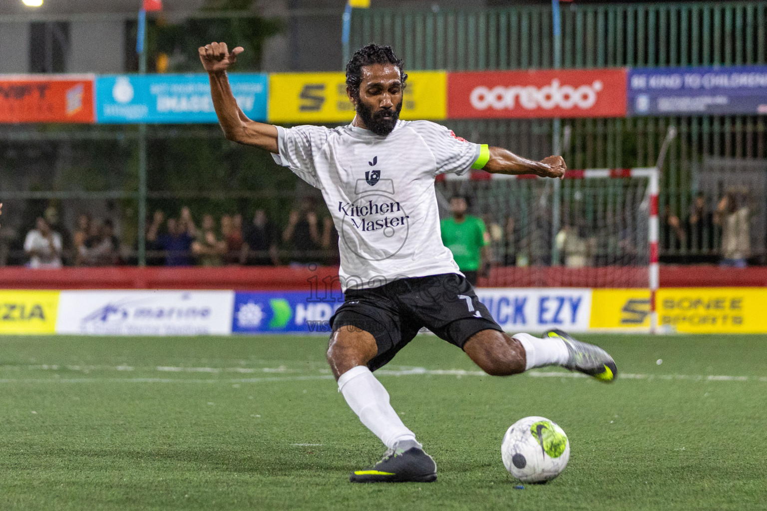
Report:
M436 464L419 447L407 450L394 447L367 470L355 470L349 476L352 483L431 483L436 481Z

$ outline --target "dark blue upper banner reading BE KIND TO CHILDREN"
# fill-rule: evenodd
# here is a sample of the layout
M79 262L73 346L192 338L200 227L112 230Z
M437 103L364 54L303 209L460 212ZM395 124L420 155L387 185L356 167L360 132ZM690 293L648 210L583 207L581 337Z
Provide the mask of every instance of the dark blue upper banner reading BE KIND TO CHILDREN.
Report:
M629 70L630 116L767 113L767 66Z

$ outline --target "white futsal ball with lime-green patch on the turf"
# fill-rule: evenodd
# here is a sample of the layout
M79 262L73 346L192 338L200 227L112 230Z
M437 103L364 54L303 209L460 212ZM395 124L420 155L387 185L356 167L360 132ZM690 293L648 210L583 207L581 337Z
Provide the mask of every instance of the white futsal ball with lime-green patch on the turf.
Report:
M555 422L525 417L506 430L501 457L506 470L523 483L545 483L567 467L570 442Z

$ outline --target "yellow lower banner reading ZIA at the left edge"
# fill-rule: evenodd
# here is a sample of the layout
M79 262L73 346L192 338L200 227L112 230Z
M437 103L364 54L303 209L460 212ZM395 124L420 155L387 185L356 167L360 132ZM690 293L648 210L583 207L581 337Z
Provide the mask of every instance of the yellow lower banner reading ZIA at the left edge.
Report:
M54 333L58 291L0 290L0 334Z

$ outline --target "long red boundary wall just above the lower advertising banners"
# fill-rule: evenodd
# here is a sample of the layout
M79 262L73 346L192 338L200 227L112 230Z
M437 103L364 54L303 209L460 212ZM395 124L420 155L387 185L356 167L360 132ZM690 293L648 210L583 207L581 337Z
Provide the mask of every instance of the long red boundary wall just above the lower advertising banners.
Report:
M29 270L0 267L0 289L212 289L307 290L324 284L337 267L103 267ZM316 277L317 280L314 280ZM480 287L634 287L647 286L647 270L625 267L501 267ZM315 284L316 285L316 284ZM337 284L336 284L337 285ZM767 287L767 267L662 266L661 287Z

